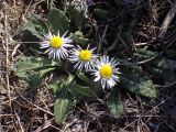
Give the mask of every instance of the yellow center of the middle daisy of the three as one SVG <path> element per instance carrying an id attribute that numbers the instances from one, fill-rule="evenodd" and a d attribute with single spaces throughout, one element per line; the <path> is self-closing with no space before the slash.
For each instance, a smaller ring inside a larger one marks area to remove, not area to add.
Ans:
<path id="1" fill-rule="evenodd" d="M 79 53 L 79 57 L 80 57 L 81 61 L 85 61 L 85 62 L 90 61 L 90 58 L 91 58 L 91 52 L 88 51 L 88 50 L 82 50 Z"/>

